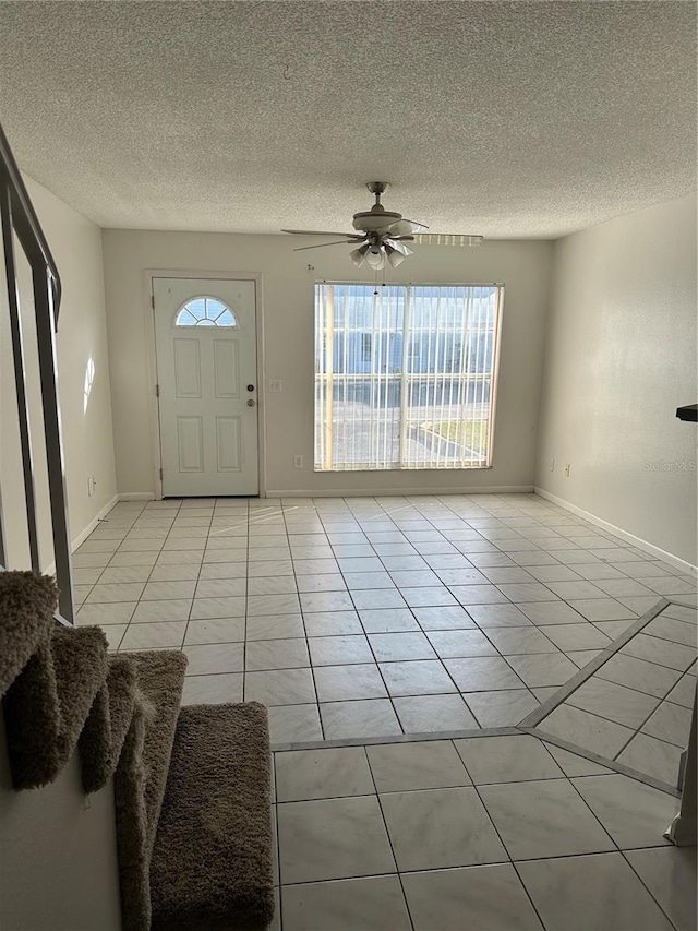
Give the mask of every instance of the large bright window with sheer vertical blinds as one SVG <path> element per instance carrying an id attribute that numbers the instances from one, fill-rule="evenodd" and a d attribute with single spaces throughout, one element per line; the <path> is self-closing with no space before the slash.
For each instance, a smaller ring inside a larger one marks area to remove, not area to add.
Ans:
<path id="1" fill-rule="evenodd" d="M 500 285 L 315 286 L 315 469 L 486 468 Z"/>

